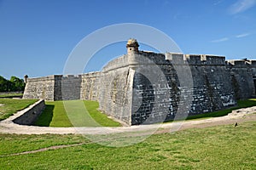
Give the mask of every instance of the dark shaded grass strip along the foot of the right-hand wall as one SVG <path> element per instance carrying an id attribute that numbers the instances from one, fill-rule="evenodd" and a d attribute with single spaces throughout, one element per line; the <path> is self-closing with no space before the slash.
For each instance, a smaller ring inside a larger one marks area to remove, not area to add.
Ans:
<path id="1" fill-rule="evenodd" d="M 241 109 L 241 108 L 247 108 L 247 107 L 253 107 L 253 106 L 256 106 L 256 99 L 242 99 L 242 100 L 237 101 L 237 105 L 234 107 L 224 109 L 221 111 L 214 111 L 214 112 L 210 112 L 210 113 L 188 116 L 186 118 L 186 120 L 227 116 L 229 113 L 231 113 L 234 110 Z M 183 120 L 183 119 L 181 119 L 181 120 Z M 179 121 L 179 120 L 177 120 L 177 121 Z M 173 122 L 173 120 L 166 121 L 166 122 Z"/>

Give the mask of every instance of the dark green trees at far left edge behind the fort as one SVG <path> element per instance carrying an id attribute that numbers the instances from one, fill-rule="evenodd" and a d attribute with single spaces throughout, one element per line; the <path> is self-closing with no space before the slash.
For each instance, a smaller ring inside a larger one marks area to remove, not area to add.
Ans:
<path id="1" fill-rule="evenodd" d="M 0 76 L 0 92 L 18 92 L 24 91 L 25 82 L 18 77 L 10 77 L 9 80 Z"/>

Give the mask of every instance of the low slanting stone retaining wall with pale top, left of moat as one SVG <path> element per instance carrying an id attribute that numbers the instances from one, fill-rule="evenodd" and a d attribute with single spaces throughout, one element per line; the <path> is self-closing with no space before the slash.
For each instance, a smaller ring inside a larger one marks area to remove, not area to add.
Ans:
<path id="1" fill-rule="evenodd" d="M 20 125 L 32 125 L 38 119 L 44 110 L 44 99 L 38 100 L 38 102 L 30 105 L 25 110 L 19 111 L 15 114 L 12 122 Z"/>

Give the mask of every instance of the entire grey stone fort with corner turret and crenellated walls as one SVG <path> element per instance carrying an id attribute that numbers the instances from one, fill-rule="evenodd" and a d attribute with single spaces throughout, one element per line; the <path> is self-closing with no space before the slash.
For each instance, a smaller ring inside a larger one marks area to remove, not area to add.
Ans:
<path id="1" fill-rule="evenodd" d="M 136 39 L 128 40 L 127 54 L 110 61 L 102 71 L 26 78 L 23 98 L 96 100 L 108 116 L 138 125 L 172 120 L 183 112 L 192 116 L 222 110 L 236 105 L 237 99 L 255 95 L 256 60 L 157 54 L 138 47 Z M 190 86 L 179 79 L 178 72 L 183 71 L 183 79 L 191 79 Z M 190 77 L 186 77 L 188 71 Z"/>

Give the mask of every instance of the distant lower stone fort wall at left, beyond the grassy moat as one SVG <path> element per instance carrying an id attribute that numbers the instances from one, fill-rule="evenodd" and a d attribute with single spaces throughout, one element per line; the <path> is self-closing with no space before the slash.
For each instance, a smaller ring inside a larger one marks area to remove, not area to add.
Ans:
<path id="1" fill-rule="evenodd" d="M 28 78 L 23 99 L 98 100 L 101 72 Z"/>

